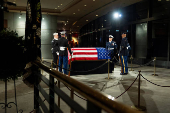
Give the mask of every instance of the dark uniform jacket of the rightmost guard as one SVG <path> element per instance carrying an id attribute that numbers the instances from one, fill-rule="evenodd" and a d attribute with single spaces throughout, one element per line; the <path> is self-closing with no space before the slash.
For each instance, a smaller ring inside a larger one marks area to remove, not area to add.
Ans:
<path id="1" fill-rule="evenodd" d="M 119 55 L 120 56 L 128 56 L 128 40 L 127 38 L 122 38 L 121 44 L 120 44 L 120 50 Z"/>

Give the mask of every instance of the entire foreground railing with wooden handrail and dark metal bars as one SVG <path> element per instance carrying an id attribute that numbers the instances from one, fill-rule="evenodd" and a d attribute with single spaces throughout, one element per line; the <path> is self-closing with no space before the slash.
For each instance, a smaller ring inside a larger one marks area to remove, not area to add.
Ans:
<path id="1" fill-rule="evenodd" d="M 109 99 L 107 95 L 104 95 L 59 71 L 50 69 L 41 62 L 35 61 L 33 64 L 50 75 L 49 80 L 43 75 L 38 75 L 49 87 L 49 94 L 47 94 L 41 85 L 38 84 L 38 79 L 36 80 L 37 83 L 34 86 L 34 109 L 36 110 L 36 113 L 42 113 L 39 106 L 41 106 L 44 113 L 63 113 L 60 109 L 60 99 L 65 101 L 71 108 L 71 113 L 74 111 L 76 113 L 101 113 L 102 110 L 108 113 L 140 113 L 126 105 Z M 58 86 L 55 85 L 54 78 L 58 80 Z M 70 97 L 60 89 L 60 82 L 71 89 Z M 44 104 L 43 99 L 39 96 L 39 92 L 49 103 L 49 107 Z M 77 92 L 87 100 L 87 109 L 73 100 L 74 92 Z M 54 94 L 58 95 L 58 105 L 55 103 Z"/>

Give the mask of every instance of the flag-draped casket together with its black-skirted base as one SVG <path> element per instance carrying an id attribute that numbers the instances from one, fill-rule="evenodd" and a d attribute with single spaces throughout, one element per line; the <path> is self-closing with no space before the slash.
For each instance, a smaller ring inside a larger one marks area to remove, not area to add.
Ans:
<path id="1" fill-rule="evenodd" d="M 71 75 L 108 73 L 109 52 L 102 47 L 71 48 L 72 58 L 68 52 L 68 63 L 71 62 Z M 114 67 L 109 67 L 110 72 Z"/>

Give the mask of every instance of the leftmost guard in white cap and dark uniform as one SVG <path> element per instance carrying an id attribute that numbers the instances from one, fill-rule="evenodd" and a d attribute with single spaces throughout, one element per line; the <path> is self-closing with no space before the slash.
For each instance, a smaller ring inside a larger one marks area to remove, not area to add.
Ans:
<path id="1" fill-rule="evenodd" d="M 53 33 L 54 39 L 51 41 L 52 44 L 52 54 L 53 54 L 53 69 L 56 69 L 57 60 L 59 55 L 59 46 L 58 46 L 58 33 Z"/>

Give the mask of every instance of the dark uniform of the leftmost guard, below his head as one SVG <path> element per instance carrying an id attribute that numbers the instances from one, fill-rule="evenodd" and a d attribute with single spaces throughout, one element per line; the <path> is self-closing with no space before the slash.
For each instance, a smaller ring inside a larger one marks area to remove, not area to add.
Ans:
<path id="1" fill-rule="evenodd" d="M 53 68 L 56 68 L 56 65 L 57 65 L 57 60 L 58 60 L 58 55 L 57 55 L 57 52 L 59 52 L 59 46 L 58 46 L 58 39 L 53 39 L 51 41 L 51 44 L 52 44 L 52 54 L 53 54 Z M 56 65 L 55 65 L 56 64 Z"/>

